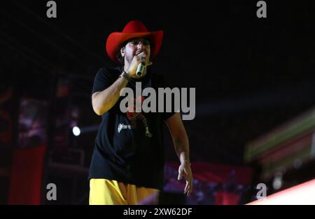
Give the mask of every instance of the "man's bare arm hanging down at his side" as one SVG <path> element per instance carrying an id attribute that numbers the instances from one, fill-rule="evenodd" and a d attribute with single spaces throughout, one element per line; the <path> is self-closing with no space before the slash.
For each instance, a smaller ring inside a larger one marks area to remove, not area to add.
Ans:
<path id="1" fill-rule="evenodd" d="M 184 194 L 189 196 L 193 191 L 193 173 L 190 168 L 188 135 L 183 126 L 183 121 L 181 121 L 181 114 L 176 112 L 172 117 L 169 117 L 167 126 L 172 135 L 177 157 L 181 161 L 178 180 L 181 180 L 182 177 L 186 179 Z"/>

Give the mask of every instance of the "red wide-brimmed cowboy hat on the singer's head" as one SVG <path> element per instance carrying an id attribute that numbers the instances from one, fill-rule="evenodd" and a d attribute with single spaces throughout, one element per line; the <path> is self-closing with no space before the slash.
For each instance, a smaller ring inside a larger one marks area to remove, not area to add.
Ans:
<path id="1" fill-rule="evenodd" d="M 113 32 L 109 34 L 106 41 L 106 52 L 114 62 L 119 63 L 116 54 L 118 53 L 120 44 L 123 44 L 123 42 L 129 39 L 139 37 L 144 37 L 154 44 L 153 48 L 151 48 L 152 58 L 158 55 L 162 45 L 163 31 L 149 32 L 144 23 L 140 20 L 128 22 L 123 32 Z"/>

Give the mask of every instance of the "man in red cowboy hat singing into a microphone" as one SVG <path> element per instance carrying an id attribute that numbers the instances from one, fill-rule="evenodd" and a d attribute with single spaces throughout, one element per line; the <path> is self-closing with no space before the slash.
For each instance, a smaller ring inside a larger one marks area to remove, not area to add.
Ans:
<path id="1" fill-rule="evenodd" d="M 166 122 L 181 165 L 178 179 L 186 180 L 184 193 L 193 190 L 189 142 L 179 112 L 138 112 L 146 97 L 134 96 L 128 112 L 120 110 L 120 91 L 165 86 L 151 72 L 151 58 L 158 55 L 162 31 L 149 32 L 139 20 L 127 23 L 123 32 L 113 32 L 106 52 L 116 68 L 101 68 L 94 79 L 92 107 L 102 116 L 90 165 L 90 204 L 138 204 L 163 189 L 165 154 L 162 125 Z M 142 71 L 137 74 L 137 69 Z"/>

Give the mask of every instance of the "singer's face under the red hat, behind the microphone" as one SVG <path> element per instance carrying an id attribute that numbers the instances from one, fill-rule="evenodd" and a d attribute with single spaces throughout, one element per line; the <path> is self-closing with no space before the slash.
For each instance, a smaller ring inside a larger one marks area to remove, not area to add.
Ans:
<path id="1" fill-rule="evenodd" d="M 124 56 L 125 61 L 130 64 L 134 55 L 139 55 L 139 53 L 142 52 L 145 53 L 142 56 L 144 56 L 146 58 L 146 62 L 148 62 L 150 60 L 151 53 L 150 41 L 144 38 L 135 38 L 127 42 L 122 55 Z"/>

